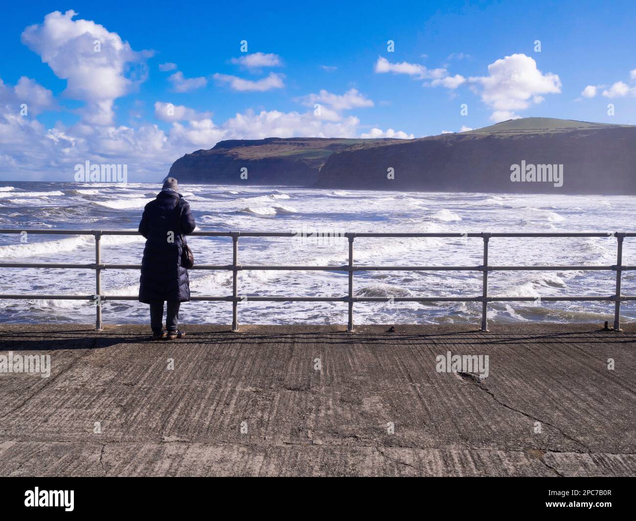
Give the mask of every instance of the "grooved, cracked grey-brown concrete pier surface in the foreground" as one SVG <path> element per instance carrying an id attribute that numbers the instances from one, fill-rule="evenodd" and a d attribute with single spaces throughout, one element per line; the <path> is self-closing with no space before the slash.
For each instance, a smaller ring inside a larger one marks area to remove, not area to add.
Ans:
<path id="1" fill-rule="evenodd" d="M 0 475 L 636 475 L 636 324 L 241 327 L 0 324 Z"/>

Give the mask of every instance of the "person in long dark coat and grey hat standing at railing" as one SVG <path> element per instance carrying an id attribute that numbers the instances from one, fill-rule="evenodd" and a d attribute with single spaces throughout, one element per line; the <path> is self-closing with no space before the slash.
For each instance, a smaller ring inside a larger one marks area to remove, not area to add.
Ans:
<path id="1" fill-rule="evenodd" d="M 184 337 L 179 331 L 179 307 L 190 300 L 188 270 L 182 265 L 182 235 L 195 229 L 190 204 L 179 193 L 174 177 L 165 179 L 162 191 L 149 202 L 139 223 L 146 238 L 141 261 L 139 302 L 150 305 L 153 340 Z M 163 303 L 166 306 L 166 330 L 163 330 Z"/>

